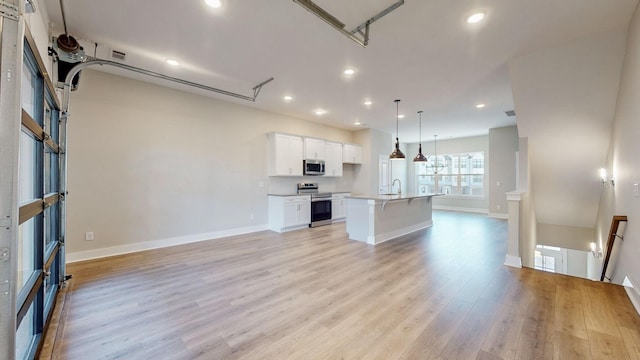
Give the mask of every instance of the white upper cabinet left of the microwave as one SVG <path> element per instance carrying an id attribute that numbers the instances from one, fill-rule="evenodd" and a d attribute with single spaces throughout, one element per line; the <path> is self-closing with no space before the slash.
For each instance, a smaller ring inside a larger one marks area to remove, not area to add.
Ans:
<path id="1" fill-rule="evenodd" d="M 269 176 L 302 176 L 301 136 L 269 133 Z"/>

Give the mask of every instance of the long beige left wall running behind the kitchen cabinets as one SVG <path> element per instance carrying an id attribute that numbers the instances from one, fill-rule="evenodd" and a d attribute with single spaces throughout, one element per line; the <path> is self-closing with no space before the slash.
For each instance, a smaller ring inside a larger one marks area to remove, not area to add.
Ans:
<path id="1" fill-rule="evenodd" d="M 70 260 L 264 228 L 268 192 L 318 180 L 267 177 L 267 132 L 355 142 L 346 130 L 94 70 L 83 71 L 70 114 Z M 355 172 L 345 170 L 321 186 L 350 191 Z"/>

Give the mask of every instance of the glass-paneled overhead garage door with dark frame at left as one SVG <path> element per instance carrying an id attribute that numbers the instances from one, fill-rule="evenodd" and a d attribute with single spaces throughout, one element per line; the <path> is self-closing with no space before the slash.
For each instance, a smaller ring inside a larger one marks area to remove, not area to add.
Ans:
<path id="1" fill-rule="evenodd" d="M 16 359 L 37 354 L 61 281 L 60 109 L 34 47 L 28 35 L 21 83 Z"/>

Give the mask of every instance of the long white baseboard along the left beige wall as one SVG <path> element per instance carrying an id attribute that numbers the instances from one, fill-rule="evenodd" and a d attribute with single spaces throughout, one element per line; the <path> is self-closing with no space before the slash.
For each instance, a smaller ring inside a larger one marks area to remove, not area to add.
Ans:
<path id="1" fill-rule="evenodd" d="M 248 226 L 248 227 L 237 228 L 237 229 L 222 230 L 222 231 L 214 231 L 214 232 L 204 233 L 204 234 L 178 236 L 178 237 L 173 237 L 168 239 L 151 240 L 151 241 L 145 241 L 145 242 L 134 243 L 134 244 L 125 244 L 125 245 L 119 245 L 119 246 L 106 247 L 101 249 L 67 252 L 66 262 L 67 264 L 69 264 L 69 263 L 78 262 L 78 261 L 99 259 L 99 258 L 108 257 L 108 256 L 129 254 L 129 253 L 138 252 L 138 251 L 159 249 L 159 248 L 164 248 L 169 246 L 219 239 L 219 238 L 228 237 L 228 236 L 249 234 L 249 233 L 263 231 L 263 230 L 268 230 L 267 224 L 257 225 L 257 226 Z"/>

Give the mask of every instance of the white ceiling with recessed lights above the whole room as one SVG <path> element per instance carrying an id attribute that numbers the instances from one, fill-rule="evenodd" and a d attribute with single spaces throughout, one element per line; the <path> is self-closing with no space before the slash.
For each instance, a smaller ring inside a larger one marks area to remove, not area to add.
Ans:
<path id="1" fill-rule="evenodd" d="M 65 0 L 69 33 L 127 53 L 127 63 L 204 85 L 251 95 L 255 103 L 206 94 L 300 119 L 357 129 L 356 121 L 400 141 L 486 134 L 515 124 L 507 62 L 515 56 L 625 26 L 637 0 L 407 0 L 371 25 L 367 48 L 291 0 Z M 351 29 L 395 0 L 316 0 Z M 59 0 L 44 0 L 61 32 Z M 475 9 L 487 12 L 467 24 Z M 89 55 L 92 46 L 85 46 Z M 172 68 L 164 61 L 181 62 Z M 346 77 L 346 67 L 356 74 Z M 171 85 L 171 84 L 167 84 Z M 82 86 L 82 85 L 81 85 Z M 198 92 L 199 90 L 185 89 Z M 203 93 L 204 94 L 204 93 Z M 294 100 L 285 103 L 290 94 Z M 373 105 L 364 106 L 365 99 Z M 478 110 L 475 104 L 486 107 Z M 312 113 L 323 108 L 327 114 Z"/>

